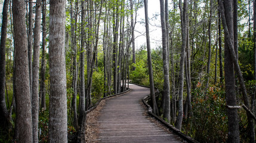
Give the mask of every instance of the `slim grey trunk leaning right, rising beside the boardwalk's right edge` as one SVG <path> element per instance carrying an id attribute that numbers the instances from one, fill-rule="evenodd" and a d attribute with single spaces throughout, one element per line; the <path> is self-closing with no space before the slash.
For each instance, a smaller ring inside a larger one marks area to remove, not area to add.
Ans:
<path id="1" fill-rule="evenodd" d="M 181 54 L 180 54 L 180 73 L 179 73 L 179 81 L 180 85 L 178 88 L 178 116 L 175 122 L 175 128 L 181 130 L 182 120 L 183 120 L 183 86 L 184 86 L 184 61 L 185 61 L 185 49 L 187 42 L 187 0 L 184 0 L 183 8 L 181 8 L 181 0 L 180 11 L 181 11 L 181 36 L 182 36 L 182 45 L 181 45 Z"/>

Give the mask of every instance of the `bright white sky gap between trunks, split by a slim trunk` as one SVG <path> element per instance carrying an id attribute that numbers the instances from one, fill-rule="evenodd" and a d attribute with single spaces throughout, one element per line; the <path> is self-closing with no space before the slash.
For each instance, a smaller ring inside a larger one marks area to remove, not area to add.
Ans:
<path id="1" fill-rule="evenodd" d="M 162 31 L 160 19 L 160 2 L 157 0 L 149 0 L 149 30 L 150 30 L 150 46 L 155 49 L 162 44 Z M 135 25 L 135 48 L 146 45 L 146 27 L 144 6 L 138 10 L 137 23 Z M 157 15 L 157 16 L 155 16 Z M 142 21 L 142 22 L 141 22 Z M 141 36 L 142 35 L 142 36 Z"/>

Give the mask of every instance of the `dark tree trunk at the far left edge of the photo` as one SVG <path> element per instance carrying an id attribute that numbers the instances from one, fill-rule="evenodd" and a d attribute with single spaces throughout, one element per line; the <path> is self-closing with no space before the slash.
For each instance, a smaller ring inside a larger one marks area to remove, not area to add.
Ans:
<path id="1" fill-rule="evenodd" d="M 10 126 L 10 121 L 8 121 L 7 106 L 5 102 L 5 42 L 7 38 L 8 5 L 9 0 L 5 0 L 2 10 L 2 27 L 0 43 L 0 128 L 7 128 L 7 125 Z"/>

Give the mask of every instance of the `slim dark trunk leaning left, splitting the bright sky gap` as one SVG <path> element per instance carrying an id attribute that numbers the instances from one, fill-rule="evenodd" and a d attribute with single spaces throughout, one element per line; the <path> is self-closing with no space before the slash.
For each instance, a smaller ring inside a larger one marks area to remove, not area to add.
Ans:
<path id="1" fill-rule="evenodd" d="M 153 113 L 158 114 L 158 106 L 156 105 L 155 97 L 155 86 L 153 79 L 152 60 L 151 60 L 151 49 L 150 49 L 150 36 L 149 36 L 149 16 L 147 8 L 147 0 L 144 0 L 145 9 L 145 26 L 146 26 L 146 38 L 147 38 L 147 62 L 149 65 L 149 84 L 150 84 L 150 95 L 153 101 Z"/>

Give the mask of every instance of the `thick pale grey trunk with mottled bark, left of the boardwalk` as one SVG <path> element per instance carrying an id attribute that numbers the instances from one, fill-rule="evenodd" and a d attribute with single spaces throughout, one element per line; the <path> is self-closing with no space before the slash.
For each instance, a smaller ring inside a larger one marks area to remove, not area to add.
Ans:
<path id="1" fill-rule="evenodd" d="M 50 1 L 49 63 L 50 102 L 49 140 L 67 142 L 67 96 L 65 61 L 66 1 Z"/>

